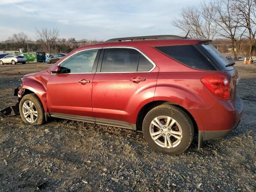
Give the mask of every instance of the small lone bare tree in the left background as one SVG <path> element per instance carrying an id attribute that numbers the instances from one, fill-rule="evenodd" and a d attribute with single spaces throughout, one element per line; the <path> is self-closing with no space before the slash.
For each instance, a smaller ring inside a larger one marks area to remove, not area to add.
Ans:
<path id="1" fill-rule="evenodd" d="M 36 35 L 41 42 L 44 42 L 44 46 L 51 54 L 51 46 L 59 36 L 59 30 L 57 28 L 48 29 L 42 28 L 41 30 L 36 29 Z"/>

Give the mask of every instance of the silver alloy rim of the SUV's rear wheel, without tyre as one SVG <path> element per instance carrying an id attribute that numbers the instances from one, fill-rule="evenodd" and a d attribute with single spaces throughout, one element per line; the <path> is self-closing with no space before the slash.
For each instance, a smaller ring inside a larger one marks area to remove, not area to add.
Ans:
<path id="1" fill-rule="evenodd" d="M 163 148 L 174 148 L 182 140 L 180 124 L 169 116 L 158 116 L 150 123 L 150 136 Z"/>

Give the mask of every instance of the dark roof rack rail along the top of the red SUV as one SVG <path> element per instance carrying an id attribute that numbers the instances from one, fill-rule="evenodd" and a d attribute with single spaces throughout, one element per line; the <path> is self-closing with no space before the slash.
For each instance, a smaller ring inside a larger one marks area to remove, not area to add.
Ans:
<path id="1" fill-rule="evenodd" d="M 134 41 L 134 40 L 175 40 L 175 39 L 186 39 L 177 35 L 152 35 L 152 36 L 138 36 L 138 37 L 124 37 L 114 38 L 106 40 L 106 43 L 110 42 L 122 42 L 122 41 Z"/>

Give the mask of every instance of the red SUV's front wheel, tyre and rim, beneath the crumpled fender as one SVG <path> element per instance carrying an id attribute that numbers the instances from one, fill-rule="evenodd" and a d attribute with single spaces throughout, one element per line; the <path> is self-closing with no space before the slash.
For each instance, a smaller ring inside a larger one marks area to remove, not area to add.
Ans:
<path id="1" fill-rule="evenodd" d="M 20 100 L 20 116 L 25 123 L 43 124 L 44 108 L 36 94 L 27 94 Z"/>

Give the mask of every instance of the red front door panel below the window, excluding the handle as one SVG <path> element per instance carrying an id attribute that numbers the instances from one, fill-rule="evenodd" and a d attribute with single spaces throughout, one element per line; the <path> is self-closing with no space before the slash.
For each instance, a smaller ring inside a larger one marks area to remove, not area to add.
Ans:
<path id="1" fill-rule="evenodd" d="M 92 115 L 92 80 L 90 74 L 51 74 L 47 83 L 48 110 L 50 113 Z M 86 79 L 89 83 L 80 84 Z"/>

